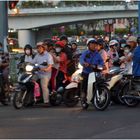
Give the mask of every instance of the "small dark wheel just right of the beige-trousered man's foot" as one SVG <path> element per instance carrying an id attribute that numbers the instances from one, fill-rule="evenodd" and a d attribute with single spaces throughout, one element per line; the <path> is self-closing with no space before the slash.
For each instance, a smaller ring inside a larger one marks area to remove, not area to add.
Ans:
<path id="1" fill-rule="evenodd" d="M 62 103 L 62 95 L 59 93 L 53 93 L 50 95 L 50 104 L 52 106 L 59 106 Z"/>

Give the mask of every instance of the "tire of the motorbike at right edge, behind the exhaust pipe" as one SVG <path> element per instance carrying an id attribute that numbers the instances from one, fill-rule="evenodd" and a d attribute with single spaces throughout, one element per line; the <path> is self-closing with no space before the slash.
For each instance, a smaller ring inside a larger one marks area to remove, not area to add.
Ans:
<path id="1" fill-rule="evenodd" d="M 123 95 L 128 95 L 128 87 L 129 87 L 129 83 L 127 83 L 123 90 L 122 90 L 122 93 Z M 124 103 L 128 106 L 128 107 L 136 107 L 138 104 L 139 104 L 139 101 L 138 100 L 135 100 L 135 99 L 127 99 L 127 98 L 124 98 L 123 99 Z"/>

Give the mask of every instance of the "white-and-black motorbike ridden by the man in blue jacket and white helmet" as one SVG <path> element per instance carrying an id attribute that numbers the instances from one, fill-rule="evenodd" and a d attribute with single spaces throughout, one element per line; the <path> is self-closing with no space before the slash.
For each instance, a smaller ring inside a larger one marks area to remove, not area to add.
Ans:
<path id="1" fill-rule="evenodd" d="M 92 66 L 93 72 L 88 77 L 87 101 L 82 103 L 83 109 L 87 109 L 89 104 L 93 104 L 96 110 L 103 111 L 110 104 L 110 91 L 108 83 L 102 77 L 103 67 Z"/>

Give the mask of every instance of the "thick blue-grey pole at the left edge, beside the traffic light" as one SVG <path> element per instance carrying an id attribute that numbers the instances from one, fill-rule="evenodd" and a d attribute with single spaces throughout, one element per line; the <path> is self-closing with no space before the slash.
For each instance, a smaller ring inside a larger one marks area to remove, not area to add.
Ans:
<path id="1" fill-rule="evenodd" d="M 7 1 L 0 1 L 0 42 L 3 44 L 4 52 L 7 49 L 8 36 L 8 6 Z"/>

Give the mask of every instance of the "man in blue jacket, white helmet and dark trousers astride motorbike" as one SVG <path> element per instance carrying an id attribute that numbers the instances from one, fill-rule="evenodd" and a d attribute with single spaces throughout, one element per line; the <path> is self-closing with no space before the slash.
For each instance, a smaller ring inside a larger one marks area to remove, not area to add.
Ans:
<path id="1" fill-rule="evenodd" d="M 80 56 L 80 64 L 83 66 L 82 77 L 82 100 L 83 104 L 86 102 L 88 76 L 93 71 L 90 65 L 103 66 L 104 62 L 101 55 L 96 51 L 97 41 L 94 38 L 87 40 L 88 50 L 84 51 Z"/>

